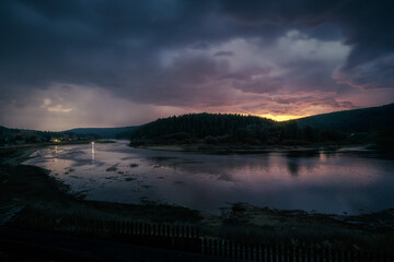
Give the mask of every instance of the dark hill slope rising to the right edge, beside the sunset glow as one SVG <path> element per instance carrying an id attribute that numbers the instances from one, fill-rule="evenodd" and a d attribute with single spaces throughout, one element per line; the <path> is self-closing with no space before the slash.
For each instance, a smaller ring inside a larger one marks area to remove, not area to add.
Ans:
<path id="1" fill-rule="evenodd" d="M 300 126 L 331 128 L 340 132 L 394 132 L 394 104 L 316 115 L 298 119 Z"/>

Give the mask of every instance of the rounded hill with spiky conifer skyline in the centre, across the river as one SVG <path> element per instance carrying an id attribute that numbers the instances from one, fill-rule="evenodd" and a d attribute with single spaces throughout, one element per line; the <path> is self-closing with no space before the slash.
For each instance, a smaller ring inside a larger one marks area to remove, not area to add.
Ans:
<path id="1" fill-rule="evenodd" d="M 299 144 L 317 141 L 339 141 L 343 134 L 333 130 L 299 128 L 296 121 L 221 114 L 190 114 L 158 119 L 131 132 L 131 144 L 173 143 L 248 143 Z"/>

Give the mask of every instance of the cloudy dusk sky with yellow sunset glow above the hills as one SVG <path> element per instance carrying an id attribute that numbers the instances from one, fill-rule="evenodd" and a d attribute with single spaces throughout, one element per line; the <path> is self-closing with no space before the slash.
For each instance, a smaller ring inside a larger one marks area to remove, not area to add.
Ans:
<path id="1" fill-rule="evenodd" d="M 0 124 L 286 120 L 394 102 L 394 2 L 1 0 Z"/>

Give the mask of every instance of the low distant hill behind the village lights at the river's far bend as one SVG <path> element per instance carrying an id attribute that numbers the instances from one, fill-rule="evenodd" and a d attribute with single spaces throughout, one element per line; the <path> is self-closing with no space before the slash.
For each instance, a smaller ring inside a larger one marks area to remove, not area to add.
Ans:
<path id="1" fill-rule="evenodd" d="M 102 139 L 128 139 L 130 132 L 137 127 L 123 128 L 77 128 L 68 130 L 77 134 L 95 134 Z"/>

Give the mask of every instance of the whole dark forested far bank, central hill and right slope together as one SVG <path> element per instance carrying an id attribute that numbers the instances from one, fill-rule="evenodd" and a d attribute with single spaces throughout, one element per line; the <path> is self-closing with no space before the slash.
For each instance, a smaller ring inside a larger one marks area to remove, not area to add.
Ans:
<path id="1" fill-rule="evenodd" d="M 189 114 L 158 119 L 130 133 L 131 145 L 393 144 L 394 104 L 276 122 L 255 116 Z"/>

